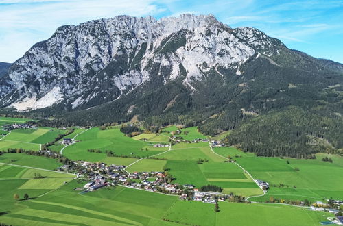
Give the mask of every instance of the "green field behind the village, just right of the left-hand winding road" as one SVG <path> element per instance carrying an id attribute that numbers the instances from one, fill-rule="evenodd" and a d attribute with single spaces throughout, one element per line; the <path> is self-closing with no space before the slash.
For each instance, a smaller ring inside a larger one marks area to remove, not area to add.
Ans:
<path id="1" fill-rule="evenodd" d="M 165 151 L 161 148 L 154 148 L 147 142 L 134 140 L 125 136 L 119 128 L 99 130 L 98 127 L 89 129 L 77 137 L 80 142 L 69 145 L 63 154 L 72 160 L 85 160 L 90 162 L 109 162 L 105 150 L 111 150 L 116 155 L 149 156 Z M 99 149 L 103 153 L 91 153 L 87 149 Z M 147 149 L 147 151 L 145 151 Z"/>

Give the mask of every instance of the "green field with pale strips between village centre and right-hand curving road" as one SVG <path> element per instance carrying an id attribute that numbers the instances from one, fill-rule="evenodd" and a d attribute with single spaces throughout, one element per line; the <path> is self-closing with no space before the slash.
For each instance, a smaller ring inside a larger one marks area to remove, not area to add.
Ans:
<path id="1" fill-rule="evenodd" d="M 215 155 L 207 143 L 189 145 L 199 144 L 206 145 L 206 147 L 189 147 L 187 149 L 184 148 L 185 144 L 180 144 L 180 148 L 176 149 L 177 146 L 174 145 L 172 151 L 158 156 L 167 159 L 165 168 L 168 168 L 168 173 L 176 178 L 174 183 L 193 184 L 198 188 L 213 184 L 222 187 L 226 193 L 235 192 L 235 194 L 245 197 L 251 194 L 263 194 L 241 168 L 236 164 L 224 162 L 224 158 Z M 199 158 L 205 162 L 197 164 Z"/>

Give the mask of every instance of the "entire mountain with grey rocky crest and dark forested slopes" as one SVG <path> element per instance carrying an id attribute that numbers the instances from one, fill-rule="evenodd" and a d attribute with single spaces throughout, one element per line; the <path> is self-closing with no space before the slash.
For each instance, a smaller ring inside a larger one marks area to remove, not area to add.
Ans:
<path id="1" fill-rule="evenodd" d="M 53 125 L 198 125 L 231 145 L 305 157 L 343 147 L 343 64 L 212 16 L 59 27 L 0 80 L 0 105 Z M 274 123 L 270 123 L 274 122 Z"/>

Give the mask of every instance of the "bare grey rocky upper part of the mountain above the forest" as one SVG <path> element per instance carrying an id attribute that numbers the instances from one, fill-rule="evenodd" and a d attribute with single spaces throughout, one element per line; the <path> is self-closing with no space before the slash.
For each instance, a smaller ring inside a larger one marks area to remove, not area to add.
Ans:
<path id="1" fill-rule="evenodd" d="M 235 71 L 250 58 L 278 54 L 279 40 L 252 28 L 232 29 L 212 16 L 116 16 L 59 27 L 17 60 L 0 86 L 1 104 L 35 110 L 61 103 L 84 109 L 119 99 L 146 81 L 158 86 Z M 224 79 L 223 83 L 224 83 Z"/>

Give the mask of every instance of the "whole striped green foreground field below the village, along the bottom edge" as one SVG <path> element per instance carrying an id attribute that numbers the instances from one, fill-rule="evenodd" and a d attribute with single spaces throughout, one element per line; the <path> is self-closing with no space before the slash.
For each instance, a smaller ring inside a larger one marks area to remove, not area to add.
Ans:
<path id="1" fill-rule="evenodd" d="M 12 180 L 10 187 L 22 183 Z M 16 190 L 6 193 L 1 186 L 5 205 L 0 205 L 0 221 L 13 225 L 319 225 L 332 216 L 282 205 L 227 202 L 220 202 L 216 213 L 211 204 L 121 186 L 80 195 L 73 191 L 81 186 L 77 181 L 42 197 L 14 202 Z M 25 190 L 32 197 L 34 191 Z"/>

